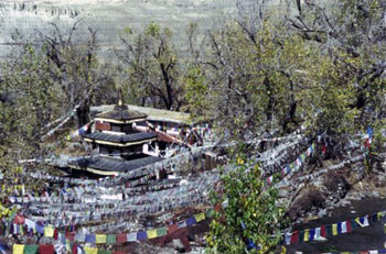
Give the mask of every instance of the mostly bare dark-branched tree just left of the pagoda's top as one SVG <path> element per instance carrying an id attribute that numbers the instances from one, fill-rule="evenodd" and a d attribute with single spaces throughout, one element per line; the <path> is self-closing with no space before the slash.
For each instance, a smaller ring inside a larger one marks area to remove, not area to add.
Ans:
<path id="1" fill-rule="evenodd" d="M 76 108 L 77 124 L 89 122 L 89 106 L 96 89 L 108 78 L 97 63 L 97 33 L 76 21 L 67 31 L 51 23 L 51 31 L 37 31 L 36 42 L 45 52 L 51 77 L 61 86 L 68 109 Z M 68 110 L 67 109 L 67 110 Z"/>

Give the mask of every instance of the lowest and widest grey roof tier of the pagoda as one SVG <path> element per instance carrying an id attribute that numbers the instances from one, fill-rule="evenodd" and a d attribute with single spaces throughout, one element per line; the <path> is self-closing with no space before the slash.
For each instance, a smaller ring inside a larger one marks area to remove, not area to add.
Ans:
<path id="1" fill-rule="evenodd" d="M 164 158 L 154 156 L 147 156 L 143 158 L 136 158 L 130 161 L 105 156 L 82 157 L 76 161 L 71 161 L 68 163 L 68 166 L 75 169 L 85 169 L 98 175 L 118 175 L 119 173 L 135 170 L 137 168 L 144 167 L 163 159 Z"/>

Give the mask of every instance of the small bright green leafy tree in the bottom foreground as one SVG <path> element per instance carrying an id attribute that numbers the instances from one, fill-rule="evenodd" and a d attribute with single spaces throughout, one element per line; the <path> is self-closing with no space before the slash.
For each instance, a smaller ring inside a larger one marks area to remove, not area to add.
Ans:
<path id="1" fill-rule="evenodd" d="M 277 202 L 277 189 L 265 186 L 260 168 L 245 159 L 238 157 L 235 170 L 222 177 L 222 190 L 214 195 L 214 205 L 225 201 L 227 206 L 215 212 L 206 236 L 207 253 L 246 253 L 247 241 L 257 245 L 248 253 L 280 250 L 280 230 L 287 225 L 285 208 Z"/>

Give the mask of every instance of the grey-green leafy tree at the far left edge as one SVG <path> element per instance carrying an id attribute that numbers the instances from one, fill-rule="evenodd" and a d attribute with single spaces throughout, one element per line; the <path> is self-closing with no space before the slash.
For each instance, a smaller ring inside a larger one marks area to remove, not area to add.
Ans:
<path id="1" fill-rule="evenodd" d="M 26 44 L 2 65 L 1 145 L 8 156 L 28 157 L 40 148 L 51 117 L 60 113 L 60 89 L 50 76 L 42 51 Z"/>

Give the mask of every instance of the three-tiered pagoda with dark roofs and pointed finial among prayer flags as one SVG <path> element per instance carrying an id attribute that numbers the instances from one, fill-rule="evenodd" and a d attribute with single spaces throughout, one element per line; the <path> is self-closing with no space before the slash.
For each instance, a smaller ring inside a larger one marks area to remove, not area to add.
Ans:
<path id="1" fill-rule="evenodd" d="M 71 161 L 68 166 L 72 169 L 109 176 L 162 161 L 163 158 L 157 156 L 157 133 L 140 132 L 135 128 L 146 122 L 147 117 L 129 110 L 119 98 L 118 104 L 111 111 L 95 117 L 90 133 L 82 134 L 92 147 L 92 156 Z M 149 152 L 149 147 L 153 147 L 154 152 Z"/>

